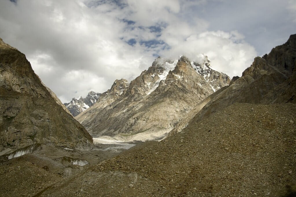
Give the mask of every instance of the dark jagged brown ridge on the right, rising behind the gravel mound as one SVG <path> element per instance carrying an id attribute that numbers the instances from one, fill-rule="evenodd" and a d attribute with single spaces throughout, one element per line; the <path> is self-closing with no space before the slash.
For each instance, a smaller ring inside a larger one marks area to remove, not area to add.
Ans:
<path id="1" fill-rule="evenodd" d="M 194 107 L 170 133 L 180 132 L 191 121 L 204 119 L 233 103 L 295 103 L 296 94 L 296 35 L 271 50 L 267 55 L 256 57 L 244 70 L 242 77 L 234 77 L 229 86 L 208 96 Z"/>

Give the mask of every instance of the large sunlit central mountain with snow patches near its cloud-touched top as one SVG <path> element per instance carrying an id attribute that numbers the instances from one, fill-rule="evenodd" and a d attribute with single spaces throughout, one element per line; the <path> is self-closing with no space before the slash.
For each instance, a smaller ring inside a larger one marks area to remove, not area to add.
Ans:
<path id="1" fill-rule="evenodd" d="M 123 141 L 158 140 L 230 78 L 215 71 L 210 60 L 195 63 L 158 57 L 130 83 L 116 80 L 99 101 L 75 118 L 93 137 Z"/>

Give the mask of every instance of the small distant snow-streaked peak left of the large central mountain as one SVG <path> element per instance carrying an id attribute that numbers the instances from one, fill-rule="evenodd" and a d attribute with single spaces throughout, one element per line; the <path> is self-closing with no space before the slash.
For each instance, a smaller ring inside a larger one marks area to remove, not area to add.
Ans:
<path id="1" fill-rule="evenodd" d="M 70 111 L 70 113 L 75 117 L 81 112 L 85 111 L 89 107 L 93 106 L 96 101 L 98 101 L 100 97 L 100 93 L 95 93 L 94 91 L 90 91 L 86 98 L 82 98 L 82 96 L 78 98 L 73 98 L 70 103 L 65 103 L 64 105 Z"/>

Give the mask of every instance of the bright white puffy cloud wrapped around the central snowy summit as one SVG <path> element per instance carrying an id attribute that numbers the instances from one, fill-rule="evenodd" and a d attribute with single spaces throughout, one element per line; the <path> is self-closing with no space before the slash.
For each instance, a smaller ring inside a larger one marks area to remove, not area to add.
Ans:
<path id="1" fill-rule="evenodd" d="M 198 61 L 198 55 L 202 53 L 209 57 L 214 69 L 230 77 L 241 76 L 257 54 L 255 48 L 244 42 L 243 35 L 236 31 L 207 31 L 189 36 L 170 51 L 163 52 L 163 55 L 186 55 L 190 60 Z"/>

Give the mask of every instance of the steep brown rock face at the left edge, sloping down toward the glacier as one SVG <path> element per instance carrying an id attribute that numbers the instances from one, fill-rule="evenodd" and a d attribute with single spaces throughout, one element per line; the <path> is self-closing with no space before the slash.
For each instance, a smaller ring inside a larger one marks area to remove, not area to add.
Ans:
<path id="1" fill-rule="evenodd" d="M 25 55 L 0 39 L 0 150 L 34 143 L 93 146 L 91 136 L 42 84 Z"/>

